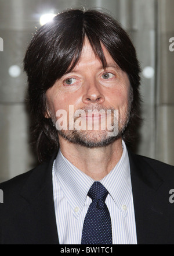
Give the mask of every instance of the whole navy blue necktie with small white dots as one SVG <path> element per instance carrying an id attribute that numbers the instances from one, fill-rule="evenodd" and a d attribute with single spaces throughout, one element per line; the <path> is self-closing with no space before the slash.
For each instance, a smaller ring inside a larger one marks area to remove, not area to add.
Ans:
<path id="1" fill-rule="evenodd" d="M 81 244 L 113 244 L 110 213 L 105 204 L 108 191 L 99 181 L 90 187 L 92 199 L 84 220 Z"/>

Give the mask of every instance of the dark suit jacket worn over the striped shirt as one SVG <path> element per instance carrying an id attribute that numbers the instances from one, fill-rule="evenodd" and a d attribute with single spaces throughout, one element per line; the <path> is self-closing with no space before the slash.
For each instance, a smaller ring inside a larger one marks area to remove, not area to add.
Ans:
<path id="1" fill-rule="evenodd" d="M 0 184 L 0 244 L 58 244 L 53 160 Z M 138 244 L 174 244 L 174 167 L 129 152 Z"/>

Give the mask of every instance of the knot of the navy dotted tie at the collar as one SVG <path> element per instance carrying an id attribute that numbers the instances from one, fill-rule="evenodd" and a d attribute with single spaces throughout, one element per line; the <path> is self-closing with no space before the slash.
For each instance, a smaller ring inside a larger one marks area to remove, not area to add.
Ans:
<path id="1" fill-rule="evenodd" d="M 108 195 L 107 189 L 99 181 L 95 181 L 90 187 L 90 190 L 88 192 L 88 196 L 92 200 L 102 199 L 103 202 L 106 200 L 107 195 Z"/>

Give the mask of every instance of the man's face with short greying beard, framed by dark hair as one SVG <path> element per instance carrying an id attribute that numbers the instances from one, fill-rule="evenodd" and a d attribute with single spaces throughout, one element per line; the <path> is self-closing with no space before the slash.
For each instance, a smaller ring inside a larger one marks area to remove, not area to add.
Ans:
<path id="1" fill-rule="evenodd" d="M 85 39 L 81 58 L 73 71 L 63 75 L 46 92 L 46 117 L 52 118 L 59 138 L 63 136 L 90 148 L 107 145 L 121 136 L 131 106 L 128 76 L 115 64 L 106 48 L 102 48 L 106 70 Z M 118 118 L 114 117 L 114 110 Z M 91 114 L 95 111 L 97 114 Z M 117 125 L 118 134 L 108 136 Z"/>

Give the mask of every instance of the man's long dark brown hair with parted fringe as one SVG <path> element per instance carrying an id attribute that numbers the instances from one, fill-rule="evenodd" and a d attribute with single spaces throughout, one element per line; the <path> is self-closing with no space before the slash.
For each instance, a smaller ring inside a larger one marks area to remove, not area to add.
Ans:
<path id="1" fill-rule="evenodd" d="M 135 139 L 133 134 L 140 121 L 140 66 L 135 47 L 126 31 L 107 13 L 98 10 L 66 10 L 34 34 L 24 58 L 24 71 L 28 76 L 28 104 L 34 120 L 32 138 L 39 162 L 49 159 L 59 150 L 56 128 L 52 120 L 45 118 L 46 91 L 78 63 L 85 37 L 103 68 L 106 67 L 106 59 L 101 43 L 129 77 L 133 99 L 123 139 L 127 144 Z"/>

